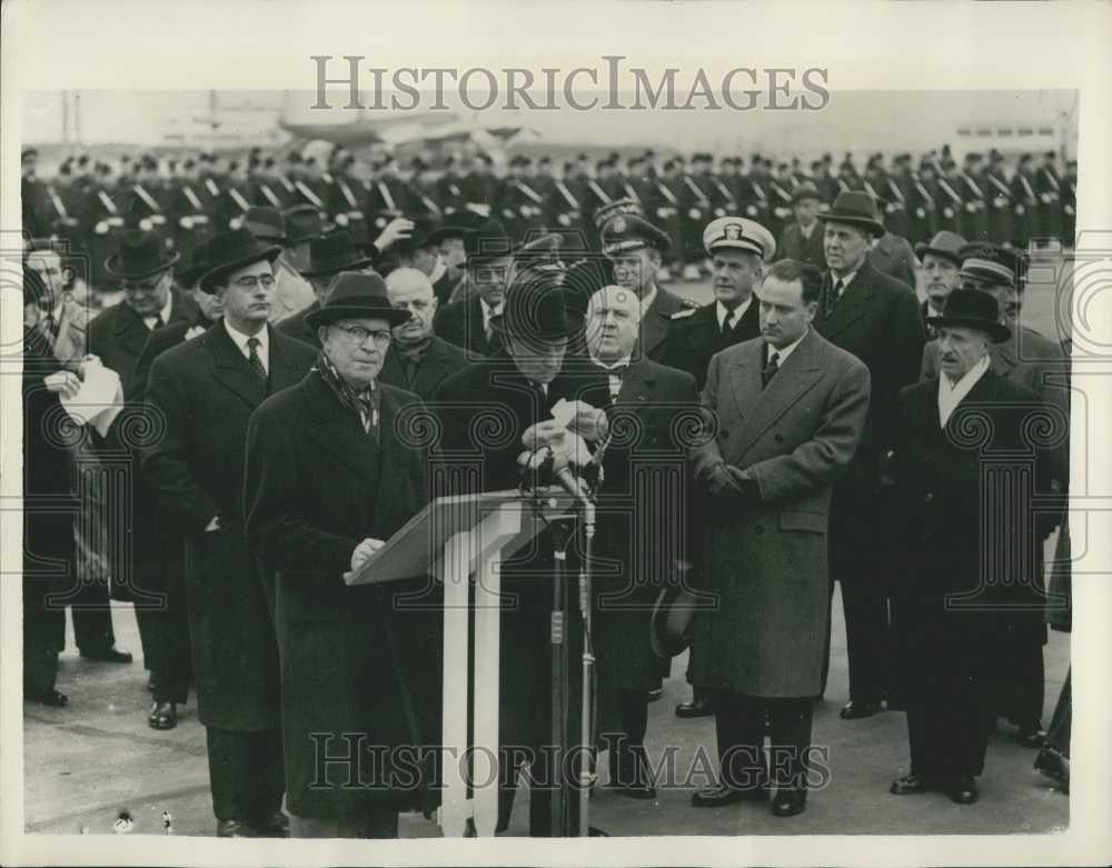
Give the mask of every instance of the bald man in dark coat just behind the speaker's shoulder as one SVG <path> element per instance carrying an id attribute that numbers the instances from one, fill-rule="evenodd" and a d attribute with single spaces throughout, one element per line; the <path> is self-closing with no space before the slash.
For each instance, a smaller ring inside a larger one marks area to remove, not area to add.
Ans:
<path id="1" fill-rule="evenodd" d="M 467 353 L 433 333 L 437 299 L 428 275 L 416 268 L 397 268 L 386 278 L 386 291 L 395 308 L 413 316 L 394 327 L 379 382 L 428 398 L 448 375 L 467 366 Z"/>

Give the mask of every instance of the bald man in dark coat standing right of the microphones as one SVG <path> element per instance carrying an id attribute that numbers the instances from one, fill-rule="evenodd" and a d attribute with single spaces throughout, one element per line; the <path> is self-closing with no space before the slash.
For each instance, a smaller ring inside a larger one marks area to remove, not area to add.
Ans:
<path id="1" fill-rule="evenodd" d="M 594 640 L 598 727 L 609 748 L 609 788 L 651 799 L 656 790 L 645 755 L 648 694 L 671 658 L 649 646 L 649 616 L 676 561 L 687 559 L 685 445 L 678 439 L 698 402 L 695 378 L 639 355 L 642 305 L 632 289 L 604 287 L 587 306 L 588 357 L 573 427 L 603 459 L 595 537 Z M 619 419 L 625 421 L 617 421 Z M 610 421 L 615 433 L 608 438 Z M 632 435 L 632 436 L 631 436 Z M 605 565 L 605 566 L 603 566 Z"/>

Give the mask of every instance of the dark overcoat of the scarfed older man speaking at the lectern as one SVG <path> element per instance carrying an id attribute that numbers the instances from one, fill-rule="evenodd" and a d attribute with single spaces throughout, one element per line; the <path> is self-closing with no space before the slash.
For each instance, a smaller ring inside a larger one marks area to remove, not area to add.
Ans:
<path id="1" fill-rule="evenodd" d="M 314 370 L 265 401 L 247 435 L 247 536 L 276 573 L 286 799 L 298 816 L 417 805 L 423 750 L 439 735 L 435 587 L 423 577 L 350 587 L 342 578 L 363 539 L 389 539 L 429 500 L 424 406 L 376 388 L 377 433 Z M 321 750 L 360 748 L 361 767 L 330 766 L 322 785 Z"/>

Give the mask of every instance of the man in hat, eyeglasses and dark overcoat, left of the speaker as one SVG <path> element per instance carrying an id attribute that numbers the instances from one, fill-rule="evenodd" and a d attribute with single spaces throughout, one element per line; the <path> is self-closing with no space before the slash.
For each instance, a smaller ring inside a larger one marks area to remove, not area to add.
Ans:
<path id="1" fill-rule="evenodd" d="M 274 588 L 244 535 L 244 443 L 251 412 L 298 382 L 314 350 L 267 322 L 278 246 L 246 228 L 215 236 L 200 288 L 224 318 L 167 350 L 147 401 L 163 433 L 142 472 L 186 538 L 186 598 L 198 717 L 207 728 L 219 837 L 285 834 Z"/>

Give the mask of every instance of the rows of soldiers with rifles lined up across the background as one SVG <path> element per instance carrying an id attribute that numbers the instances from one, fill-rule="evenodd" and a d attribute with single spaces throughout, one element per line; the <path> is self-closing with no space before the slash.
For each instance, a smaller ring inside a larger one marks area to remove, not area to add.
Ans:
<path id="1" fill-rule="evenodd" d="M 259 149 L 228 157 L 201 152 L 159 160 L 125 158 L 118 167 L 87 154 L 64 160 L 53 177 L 38 176 L 38 152 L 24 149 L 23 222 L 32 237 L 66 239 L 88 253 L 86 279 L 102 287 L 102 262 L 125 226 L 149 226 L 185 258 L 192 243 L 241 221 L 251 206 L 316 210 L 321 219 L 370 240 L 396 218 L 450 221 L 468 216 L 502 220 L 515 238 L 542 228 L 594 236 L 595 212 L 633 199 L 672 239 L 662 280 L 706 272 L 702 227 L 715 217 L 741 216 L 776 239 L 794 221 L 800 197 L 822 210 L 847 190 L 872 196 L 888 231 L 911 243 L 937 231 L 1027 249 L 1056 239 L 1072 246 L 1076 228 L 1076 162 L 1058 156 L 1020 154 L 1010 162 L 995 149 L 961 162 L 949 148 L 923 154 L 876 153 L 858 169 L 852 154 L 835 168 L 830 154 L 804 167 L 754 153 L 748 163 L 697 152 L 658 159 L 653 151 L 592 160 L 585 153 L 555 167 L 550 158 L 514 153 L 504 170 L 481 151 L 451 154 L 434 168 L 415 157 L 374 160 L 340 147 L 320 159 L 291 150 L 282 160 Z M 595 238 L 594 240 L 597 240 Z"/>

